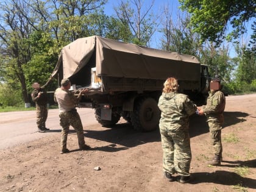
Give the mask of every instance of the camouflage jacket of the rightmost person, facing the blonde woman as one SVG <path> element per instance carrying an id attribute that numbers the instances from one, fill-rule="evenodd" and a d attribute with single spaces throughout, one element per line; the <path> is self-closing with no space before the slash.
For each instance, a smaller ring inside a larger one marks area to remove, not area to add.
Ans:
<path id="1" fill-rule="evenodd" d="M 226 98 L 222 91 L 209 91 L 209 96 L 207 98 L 207 104 L 203 105 L 205 115 L 207 116 L 207 121 L 219 121 L 224 122 L 223 112 L 226 106 Z"/>

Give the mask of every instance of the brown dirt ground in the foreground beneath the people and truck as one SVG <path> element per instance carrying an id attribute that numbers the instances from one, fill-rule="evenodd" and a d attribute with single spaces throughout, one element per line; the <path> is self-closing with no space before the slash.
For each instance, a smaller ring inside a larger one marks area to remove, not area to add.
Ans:
<path id="1" fill-rule="evenodd" d="M 73 130 L 68 154 L 60 154 L 60 133 L 2 149 L 0 191 L 256 191 L 256 94 L 226 99 L 222 166 L 207 165 L 207 124 L 202 116 L 191 117 L 191 183 L 163 178 L 158 130 L 135 132 L 123 119 L 105 128 L 85 119 L 89 151 L 77 151 Z"/>

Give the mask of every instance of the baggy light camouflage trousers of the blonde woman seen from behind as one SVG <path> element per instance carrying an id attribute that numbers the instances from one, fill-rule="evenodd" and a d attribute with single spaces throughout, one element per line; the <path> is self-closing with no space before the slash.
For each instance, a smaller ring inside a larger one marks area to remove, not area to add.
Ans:
<path id="1" fill-rule="evenodd" d="M 190 176 L 191 148 L 188 129 L 170 130 L 160 126 L 163 148 L 163 171 Z"/>

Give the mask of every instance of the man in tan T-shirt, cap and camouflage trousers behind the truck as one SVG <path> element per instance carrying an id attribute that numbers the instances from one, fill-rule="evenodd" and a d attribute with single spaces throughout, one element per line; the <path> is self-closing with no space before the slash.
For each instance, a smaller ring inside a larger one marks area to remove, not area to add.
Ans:
<path id="1" fill-rule="evenodd" d="M 69 126 L 73 126 L 77 133 L 79 149 L 90 148 L 85 144 L 84 130 L 79 114 L 76 111 L 77 102 L 80 99 L 82 93 L 88 90 L 80 91 L 79 96 L 76 98 L 74 94 L 69 91 L 71 83 L 69 79 L 63 79 L 62 87 L 57 88 L 54 93 L 54 101 L 59 104 L 59 116 L 60 116 L 60 126 L 62 126 L 62 138 L 61 138 L 61 152 L 66 153 L 69 150 L 66 148 L 66 141 L 68 139 Z"/>

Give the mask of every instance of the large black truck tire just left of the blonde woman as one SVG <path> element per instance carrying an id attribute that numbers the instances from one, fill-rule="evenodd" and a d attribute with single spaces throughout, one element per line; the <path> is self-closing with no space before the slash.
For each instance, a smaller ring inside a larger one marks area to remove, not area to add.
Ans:
<path id="1" fill-rule="evenodd" d="M 131 121 L 135 130 L 148 132 L 158 128 L 160 110 L 153 98 L 141 98 L 135 103 Z"/>

